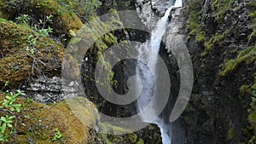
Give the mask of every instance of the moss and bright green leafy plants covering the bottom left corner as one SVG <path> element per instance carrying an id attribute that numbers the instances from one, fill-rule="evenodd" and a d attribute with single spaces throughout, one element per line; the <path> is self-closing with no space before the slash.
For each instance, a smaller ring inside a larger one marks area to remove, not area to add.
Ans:
<path id="1" fill-rule="evenodd" d="M 90 139 L 89 128 L 74 115 L 67 101 L 48 106 L 35 101 L 27 102 L 26 99 L 20 97 L 21 94 L 20 91 L 13 95 L 0 93 L 2 107 L 0 109 L 0 141 L 2 143 L 88 142 Z M 79 110 L 80 113 L 83 113 L 83 117 L 88 120 L 88 123 L 96 123 L 98 115 L 95 115 L 96 108 L 92 106 L 93 104 L 88 103 L 86 98 L 71 100 L 83 101 L 84 105 Z M 7 102 L 8 105 L 6 105 Z"/>

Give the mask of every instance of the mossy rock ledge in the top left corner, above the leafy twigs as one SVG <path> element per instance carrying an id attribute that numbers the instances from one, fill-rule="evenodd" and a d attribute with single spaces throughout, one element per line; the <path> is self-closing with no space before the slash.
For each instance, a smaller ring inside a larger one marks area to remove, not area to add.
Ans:
<path id="1" fill-rule="evenodd" d="M 79 16 L 72 9 L 67 9 L 55 0 L 22 0 L 22 1 L 0 1 L 2 16 L 5 19 L 15 19 L 16 13 L 22 9 L 29 9 L 35 19 L 42 15 L 53 15 L 53 28 L 55 32 L 67 33 L 69 30 L 77 31 L 82 25 Z"/>

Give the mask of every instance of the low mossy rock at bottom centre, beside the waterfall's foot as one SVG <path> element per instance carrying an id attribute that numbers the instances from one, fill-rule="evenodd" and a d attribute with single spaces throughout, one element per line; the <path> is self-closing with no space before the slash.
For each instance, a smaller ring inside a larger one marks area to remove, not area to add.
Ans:
<path id="1" fill-rule="evenodd" d="M 96 144 L 156 144 L 161 143 L 159 128 L 154 124 L 149 124 L 143 130 L 132 132 L 131 130 L 113 126 L 108 123 L 100 123 L 100 130 L 96 135 L 92 135 L 90 143 Z M 108 130 L 108 131 L 107 131 Z M 125 134 L 125 135 L 124 135 Z"/>

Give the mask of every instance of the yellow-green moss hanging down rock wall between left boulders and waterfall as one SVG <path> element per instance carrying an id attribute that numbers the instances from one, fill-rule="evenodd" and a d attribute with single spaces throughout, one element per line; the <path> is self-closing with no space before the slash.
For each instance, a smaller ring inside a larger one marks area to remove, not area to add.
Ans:
<path id="1" fill-rule="evenodd" d="M 116 12 L 115 10 L 112 10 L 112 11 Z M 81 43 L 91 44 L 91 45 L 87 45 L 87 47 L 90 47 L 88 52 L 90 54 L 96 55 L 95 63 L 97 63 L 97 66 L 99 67 L 98 72 L 102 72 L 104 74 L 106 74 L 106 72 L 109 73 L 109 77 L 105 79 L 101 79 L 102 80 L 101 82 L 99 82 L 99 79 L 94 79 L 93 81 L 95 81 L 96 84 L 101 84 L 102 86 L 106 86 L 108 89 L 108 92 L 110 92 L 110 90 L 112 89 L 112 86 L 116 86 L 116 81 L 113 79 L 114 73 L 112 71 L 112 67 L 110 66 L 110 63 L 108 62 L 108 58 L 104 57 L 104 52 L 108 48 L 119 43 L 117 37 L 114 37 L 112 33 L 113 30 L 115 29 L 124 30 L 124 26 L 122 25 L 122 23 L 119 20 L 117 20 L 119 16 L 115 16 L 115 17 L 116 19 L 112 17 L 106 22 L 102 22 L 98 17 L 91 18 L 90 24 L 86 23 L 84 26 L 82 26 L 81 30 L 79 30 L 79 32 L 76 33 L 76 37 L 71 39 L 72 43 L 70 43 L 69 45 L 70 48 L 73 48 L 74 52 L 78 52 L 78 51 L 82 52 L 84 51 L 84 47 L 81 48 L 79 46 L 81 45 Z M 116 25 L 117 24 L 116 21 L 119 21 L 118 25 Z M 76 40 L 77 37 L 81 37 L 82 39 L 79 39 L 79 42 L 78 42 L 78 40 Z M 123 43 L 123 45 L 128 46 L 128 43 Z M 120 49 L 124 49 L 124 47 L 120 47 Z M 73 53 L 73 51 L 70 51 L 70 52 Z M 111 53 L 110 55 L 113 56 L 112 57 L 113 59 L 115 58 L 113 53 Z M 87 77 L 86 74 L 84 73 L 82 74 L 82 76 Z"/>

